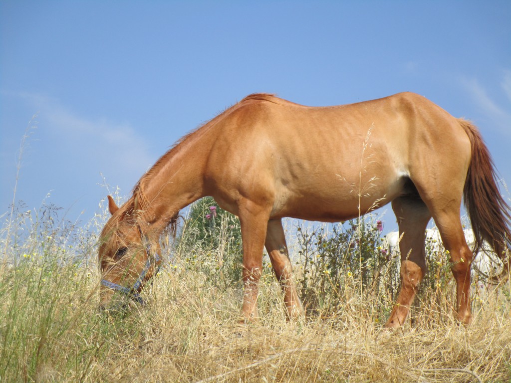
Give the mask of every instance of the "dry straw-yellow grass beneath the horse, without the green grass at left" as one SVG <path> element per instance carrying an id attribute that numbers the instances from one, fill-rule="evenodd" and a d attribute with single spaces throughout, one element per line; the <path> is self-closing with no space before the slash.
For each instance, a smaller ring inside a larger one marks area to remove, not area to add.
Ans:
<path id="1" fill-rule="evenodd" d="M 91 370 L 107 381 L 509 381 L 509 301 L 492 295 L 464 328 L 428 315 L 388 332 L 352 299 L 328 319 L 287 322 L 276 283 L 264 286 L 261 321 L 239 325 L 239 291 L 192 275 L 159 277 L 149 306 L 131 313 L 124 339 Z M 505 307 L 503 307 L 505 305 Z M 94 380 L 92 379 L 92 380 Z"/>

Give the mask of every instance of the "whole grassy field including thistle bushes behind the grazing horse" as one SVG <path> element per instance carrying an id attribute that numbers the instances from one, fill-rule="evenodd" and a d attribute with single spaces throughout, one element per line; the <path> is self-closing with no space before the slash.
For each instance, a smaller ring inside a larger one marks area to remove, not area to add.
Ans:
<path id="1" fill-rule="evenodd" d="M 95 245 L 105 217 L 78 229 L 44 206 L 38 212 L 18 207 L 4 220 L 2 382 L 511 380 L 509 283 L 494 291 L 476 280 L 474 321 L 460 326 L 452 316 L 445 254 L 430 254 L 430 276 L 410 320 L 386 331 L 395 276 L 372 224 L 337 234 L 288 228 L 307 318 L 286 321 L 280 288 L 265 262 L 260 322 L 240 325 L 239 243 L 230 243 L 237 237 L 222 226 L 235 229 L 231 222 L 218 223 L 214 246 L 170 246 L 166 267 L 144 291 L 146 305 L 109 315 L 97 309 Z M 357 233 L 358 247 L 342 248 Z"/>

